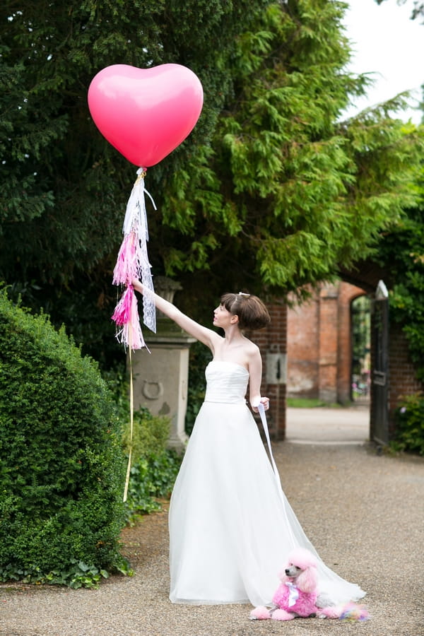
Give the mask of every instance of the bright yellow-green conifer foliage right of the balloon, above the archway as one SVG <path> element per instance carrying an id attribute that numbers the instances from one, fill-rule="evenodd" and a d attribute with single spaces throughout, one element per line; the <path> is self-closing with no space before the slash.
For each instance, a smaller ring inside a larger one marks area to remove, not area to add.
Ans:
<path id="1" fill-rule="evenodd" d="M 172 273 L 209 269 L 215 293 L 222 280 L 295 290 L 369 251 L 414 200 L 421 142 L 391 118 L 402 98 L 341 121 L 349 96 L 366 86 L 344 70 L 344 8 L 272 4 L 239 38 L 235 99 L 221 113 L 213 156 L 199 181 L 190 165 L 165 192 L 166 223 L 185 230 L 178 248 L 164 242 Z"/>

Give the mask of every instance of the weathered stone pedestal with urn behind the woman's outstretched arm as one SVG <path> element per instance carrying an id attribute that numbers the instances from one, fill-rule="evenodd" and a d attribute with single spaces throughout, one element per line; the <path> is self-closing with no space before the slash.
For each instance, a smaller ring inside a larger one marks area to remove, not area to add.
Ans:
<path id="1" fill-rule="evenodd" d="M 172 302 L 179 283 L 158 276 L 155 291 Z M 155 416 L 171 420 L 168 446 L 181 452 L 187 443 L 184 430 L 189 378 L 189 347 L 195 341 L 172 320 L 157 311 L 156 333 L 144 333 L 146 349 L 133 353 L 134 408 L 145 406 Z"/>

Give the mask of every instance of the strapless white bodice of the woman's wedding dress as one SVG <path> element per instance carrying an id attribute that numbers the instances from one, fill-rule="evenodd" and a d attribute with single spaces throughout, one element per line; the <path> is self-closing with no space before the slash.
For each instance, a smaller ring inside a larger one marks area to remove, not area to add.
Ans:
<path id="1" fill-rule="evenodd" d="M 212 360 L 205 371 L 205 402 L 245 402 L 249 371 L 236 363 Z"/>

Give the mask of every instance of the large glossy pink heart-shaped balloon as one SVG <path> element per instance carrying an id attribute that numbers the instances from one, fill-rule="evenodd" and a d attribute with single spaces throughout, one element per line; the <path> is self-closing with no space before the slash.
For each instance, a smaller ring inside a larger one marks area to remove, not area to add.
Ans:
<path id="1" fill-rule="evenodd" d="M 139 167 L 155 165 L 194 129 L 203 105 L 199 78 L 180 64 L 137 69 L 114 64 L 88 88 L 88 107 L 103 136 Z"/>

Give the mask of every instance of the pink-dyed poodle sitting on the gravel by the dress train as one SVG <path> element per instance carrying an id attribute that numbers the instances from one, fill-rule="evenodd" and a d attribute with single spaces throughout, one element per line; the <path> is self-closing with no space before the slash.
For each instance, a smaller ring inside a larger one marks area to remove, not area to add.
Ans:
<path id="1" fill-rule="evenodd" d="M 317 558 L 305 548 L 296 548 L 288 555 L 288 563 L 280 572 L 281 584 L 273 595 L 273 607 L 260 606 L 250 613 L 252 620 L 273 618 L 292 620 L 319 616 L 319 618 L 346 618 L 367 620 L 367 611 L 362 606 L 349 603 L 343 607 L 317 606 Z M 318 601 L 319 602 L 319 601 Z"/>

